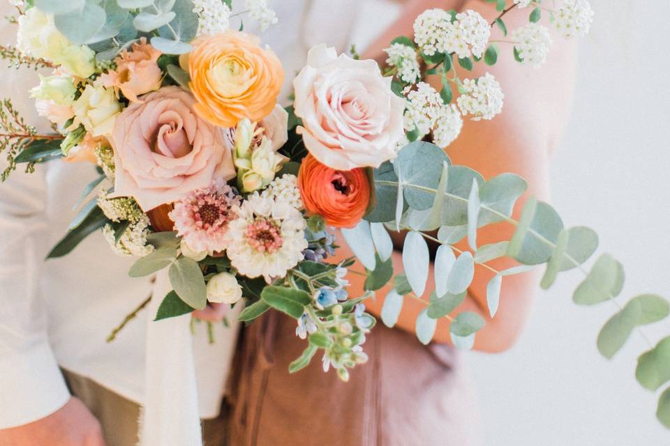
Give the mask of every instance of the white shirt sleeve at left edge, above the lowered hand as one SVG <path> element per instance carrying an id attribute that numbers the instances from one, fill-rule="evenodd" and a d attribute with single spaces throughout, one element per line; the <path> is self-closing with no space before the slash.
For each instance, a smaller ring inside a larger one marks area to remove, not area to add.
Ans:
<path id="1" fill-rule="evenodd" d="M 0 16 L 13 12 L 7 1 Z M 0 41 L 15 41 L 16 25 L 0 21 Z M 13 98 L 27 122 L 43 128 L 28 90 L 36 73 L 0 64 L 0 98 Z M 41 129 L 40 129 L 41 130 Z M 0 169 L 7 165 L 0 154 Z M 43 418 L 70 398 L 47 338 L 47 314 L 39 289 L 40 270 L 47 268 L 38 235 L 48 229 L 45 216 L 45 167 L 24 174 L 20 164 L 0 183 L 0 429 Z M 38 254 L 39 253 L 39 254 Z"/>

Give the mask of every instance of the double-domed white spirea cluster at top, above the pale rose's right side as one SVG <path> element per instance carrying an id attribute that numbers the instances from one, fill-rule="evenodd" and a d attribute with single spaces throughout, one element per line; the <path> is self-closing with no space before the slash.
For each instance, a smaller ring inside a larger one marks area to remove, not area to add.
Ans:
<path id="1" fill-rule="evenodd" d="M 452 15 L 441 9 L 429 9 L 414 22 L 415 42 L 424 54 L 455 52 L 462 59 L 472 54 L 481 57 L 491 37 L 491 26 L 473 10 Z"/>

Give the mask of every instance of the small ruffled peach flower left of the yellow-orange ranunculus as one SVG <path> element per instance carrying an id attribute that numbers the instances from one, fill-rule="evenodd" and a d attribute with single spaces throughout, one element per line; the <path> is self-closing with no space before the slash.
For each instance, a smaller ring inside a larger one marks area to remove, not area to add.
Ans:
<path id="1" fill-rule="evenodd" d="M 132 49 L 119 54 L 115 60 L 117 68 L 102 75 L 101 79 L 106 87 L 113 86 L 128 100 L 137 102 L 137 96 L 161 88 L 163 72 L 158 67 L 158 58 L 163 53 L 149 45 L 144 37 L 140 43 L 133 43 Z"/>

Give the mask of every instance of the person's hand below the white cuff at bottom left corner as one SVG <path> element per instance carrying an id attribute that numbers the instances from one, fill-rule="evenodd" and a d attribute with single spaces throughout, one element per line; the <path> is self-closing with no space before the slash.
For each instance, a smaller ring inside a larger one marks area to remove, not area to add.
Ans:
<path id="1" fill-rule="evenodd" d="M 0 430 L 2 446 L 105 446 L 103 431 L 84 403 L 72 397 L 51 415 Z"/>

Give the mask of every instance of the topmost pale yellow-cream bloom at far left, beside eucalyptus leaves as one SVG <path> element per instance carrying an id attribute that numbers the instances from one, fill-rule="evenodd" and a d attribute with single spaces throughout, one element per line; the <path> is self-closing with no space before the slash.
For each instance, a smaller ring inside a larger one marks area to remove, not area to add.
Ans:
<path id="1" fill-rule="evenodd" d="M 57 63 L 79 77 L 89 77 L 96 71 L 93 50 L 70 42 L 56 29 L 53 17 L 30 8 L 18 22 L 17 47 L 21 52 Z"/>

